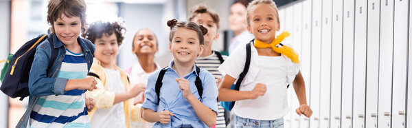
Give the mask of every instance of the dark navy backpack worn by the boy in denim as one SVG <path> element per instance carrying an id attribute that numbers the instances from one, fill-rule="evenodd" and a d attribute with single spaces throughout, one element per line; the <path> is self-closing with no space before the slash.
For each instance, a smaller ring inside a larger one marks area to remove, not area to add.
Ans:
<path id="1" fill-rule="evenodd" d="M 1 78 L 4 78 L 2 79 L 0 87 L 4 94 L 11 98 L 20 97 L 20 100 L 30 96 L 28 87 L 30 68 L 32 67 L 37 46 L 46 39 L 49 40 L 49 44 L 52 46 L 52 57 L 49 58 L 47 66 L 47 76 L 52 77 L 52 72 L 49 72 L 49 70 L 57 58 L 58 49 L 54 48 L 53 35 L 43 34 L 42 36 L 27 41 L 14 55 L 12 55 L 12 59 L 8 60 L 12 66 L 9 66 L 9 63 L 5 63 L 5 66 L 3 67 L 5 72 L 1 72 Z M 94 53 L 93 45 L 87 42 L 85 42 L 85 44 L 89 47 L 91 52 Z"/>

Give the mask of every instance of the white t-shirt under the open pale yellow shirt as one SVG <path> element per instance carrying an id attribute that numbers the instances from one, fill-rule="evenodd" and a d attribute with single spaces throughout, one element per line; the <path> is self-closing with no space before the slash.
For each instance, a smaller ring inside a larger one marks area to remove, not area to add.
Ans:
<path id="1" fill-rule="evenodd" d="M 104 68 L 107 75 L 107 91 L 120 94 L 126 92 L 124 83 L 117 70 Z M 112 107 L 96 109 L 91 118 L 91 127 L 126 127 L 123 102 L 117 103 Z"/>

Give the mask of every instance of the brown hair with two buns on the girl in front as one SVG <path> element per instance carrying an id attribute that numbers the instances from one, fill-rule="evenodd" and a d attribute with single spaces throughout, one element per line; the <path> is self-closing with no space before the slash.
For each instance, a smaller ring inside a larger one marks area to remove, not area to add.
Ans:
<path id="1" fill-rule="evenodd" d="M 198 34 L 199 43 L 200 45 L 205 44 L 205 39 L 203 36 L 207 34 L 207 29 L 203 27 L 203 25 L 197 25 L 194 22 L 177 22 L 176 19 L 172 19 L 168 21 L 168 26 L 170 27 L 170 34 L 169 34 L 169 41 L 172 42 L 174 32 L 176 32 L 177 28 L 186 28 L 189 30 L 194 30 Z"/>

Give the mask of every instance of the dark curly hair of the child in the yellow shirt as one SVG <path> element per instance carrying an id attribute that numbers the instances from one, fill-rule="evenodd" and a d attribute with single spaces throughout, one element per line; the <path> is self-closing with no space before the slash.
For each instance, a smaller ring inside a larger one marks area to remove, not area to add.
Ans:
<path id="1" fill-rule="evenodd" d="M 86 32 L 82 34 L 85 39 L 89 39 L 93 44 L 96 39 L 102 38 L 103 34 L 111 35 L 115 34 L 117 39 L 117 45 L 122 45 L 124 39 L 124 32 L 126 28 L 123 27 L 124 21 L 119 19 L 119 21 L 95 21 L 89 25 Z"/>

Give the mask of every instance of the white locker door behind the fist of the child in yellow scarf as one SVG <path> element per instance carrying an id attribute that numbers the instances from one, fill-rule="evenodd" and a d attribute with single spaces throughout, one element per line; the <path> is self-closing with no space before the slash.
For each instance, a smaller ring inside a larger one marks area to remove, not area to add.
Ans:
<path id="1" fill-rule="evenodd" d="M 306 0 L 302 2 L 302 47 L 301 47 L 301 74 L 304 76 L 306 86 L 306 103 L 310 105 L 310 34 L 311 32 L 311 14 L 312 14 L 312 1 Z M 313 108 L 312 108 L 313 109 Z M 308 128 L 309 121 L 306 116 L 301 116 L 300 121 L 301 128 Z"/>

